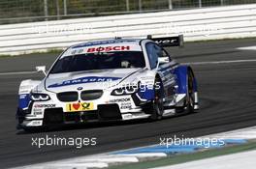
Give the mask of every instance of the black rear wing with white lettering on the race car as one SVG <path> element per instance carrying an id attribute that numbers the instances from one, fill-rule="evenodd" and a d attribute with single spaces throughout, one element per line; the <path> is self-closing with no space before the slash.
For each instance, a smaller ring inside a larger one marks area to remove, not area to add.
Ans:
<path id="1" fill-rule="evenodd" d="M 158 45 L 160 45 L 162 47 L 170 47 L 170 46 L 182 47 L 182 46 L 184 46 L 183 35 L 179 35 L 176 37 L 165 37 L 165 38 L 152 38 L 151 35 L 148 35 L 147 39 L 158 43 Z"/>

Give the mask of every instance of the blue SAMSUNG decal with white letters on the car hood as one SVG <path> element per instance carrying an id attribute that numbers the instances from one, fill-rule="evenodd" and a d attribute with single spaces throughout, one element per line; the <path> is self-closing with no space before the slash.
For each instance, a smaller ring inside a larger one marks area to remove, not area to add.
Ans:
<path id="1" fill-rule="evenodd" d="M 56 88 L 62 86 L 69 86 L 69 85 L 77 85 L 82 83 L 95 83 L 95 82 L 112 82 L 114 80 L 119 80 L 120 77 L 98 77 L 98 76 L 87 76 L 81 77 L 73 80 L 66 80 L 61 83 L 54 83 L 48 86 L 48 88 Z"/>

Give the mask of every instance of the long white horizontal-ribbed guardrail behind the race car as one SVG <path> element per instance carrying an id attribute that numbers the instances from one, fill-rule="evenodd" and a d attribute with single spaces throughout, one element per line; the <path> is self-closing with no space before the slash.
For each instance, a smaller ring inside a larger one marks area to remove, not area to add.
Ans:
<path id="1" fill-rule="evenodd" d="M 65 48 L 114 37 L 167 37 L 185 42 L 256 37 L 256 4 L 0 26 L 0 54 Z"/>

